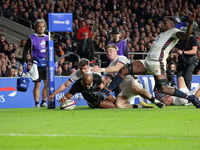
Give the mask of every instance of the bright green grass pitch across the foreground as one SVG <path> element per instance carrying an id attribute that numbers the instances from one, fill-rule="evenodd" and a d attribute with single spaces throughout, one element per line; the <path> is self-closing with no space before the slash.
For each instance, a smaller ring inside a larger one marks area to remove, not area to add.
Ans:
<path id="1" fill-rule="evenodd" d="M 0 109 L 1 150 L 197 150 L 200 110 Z"/>

